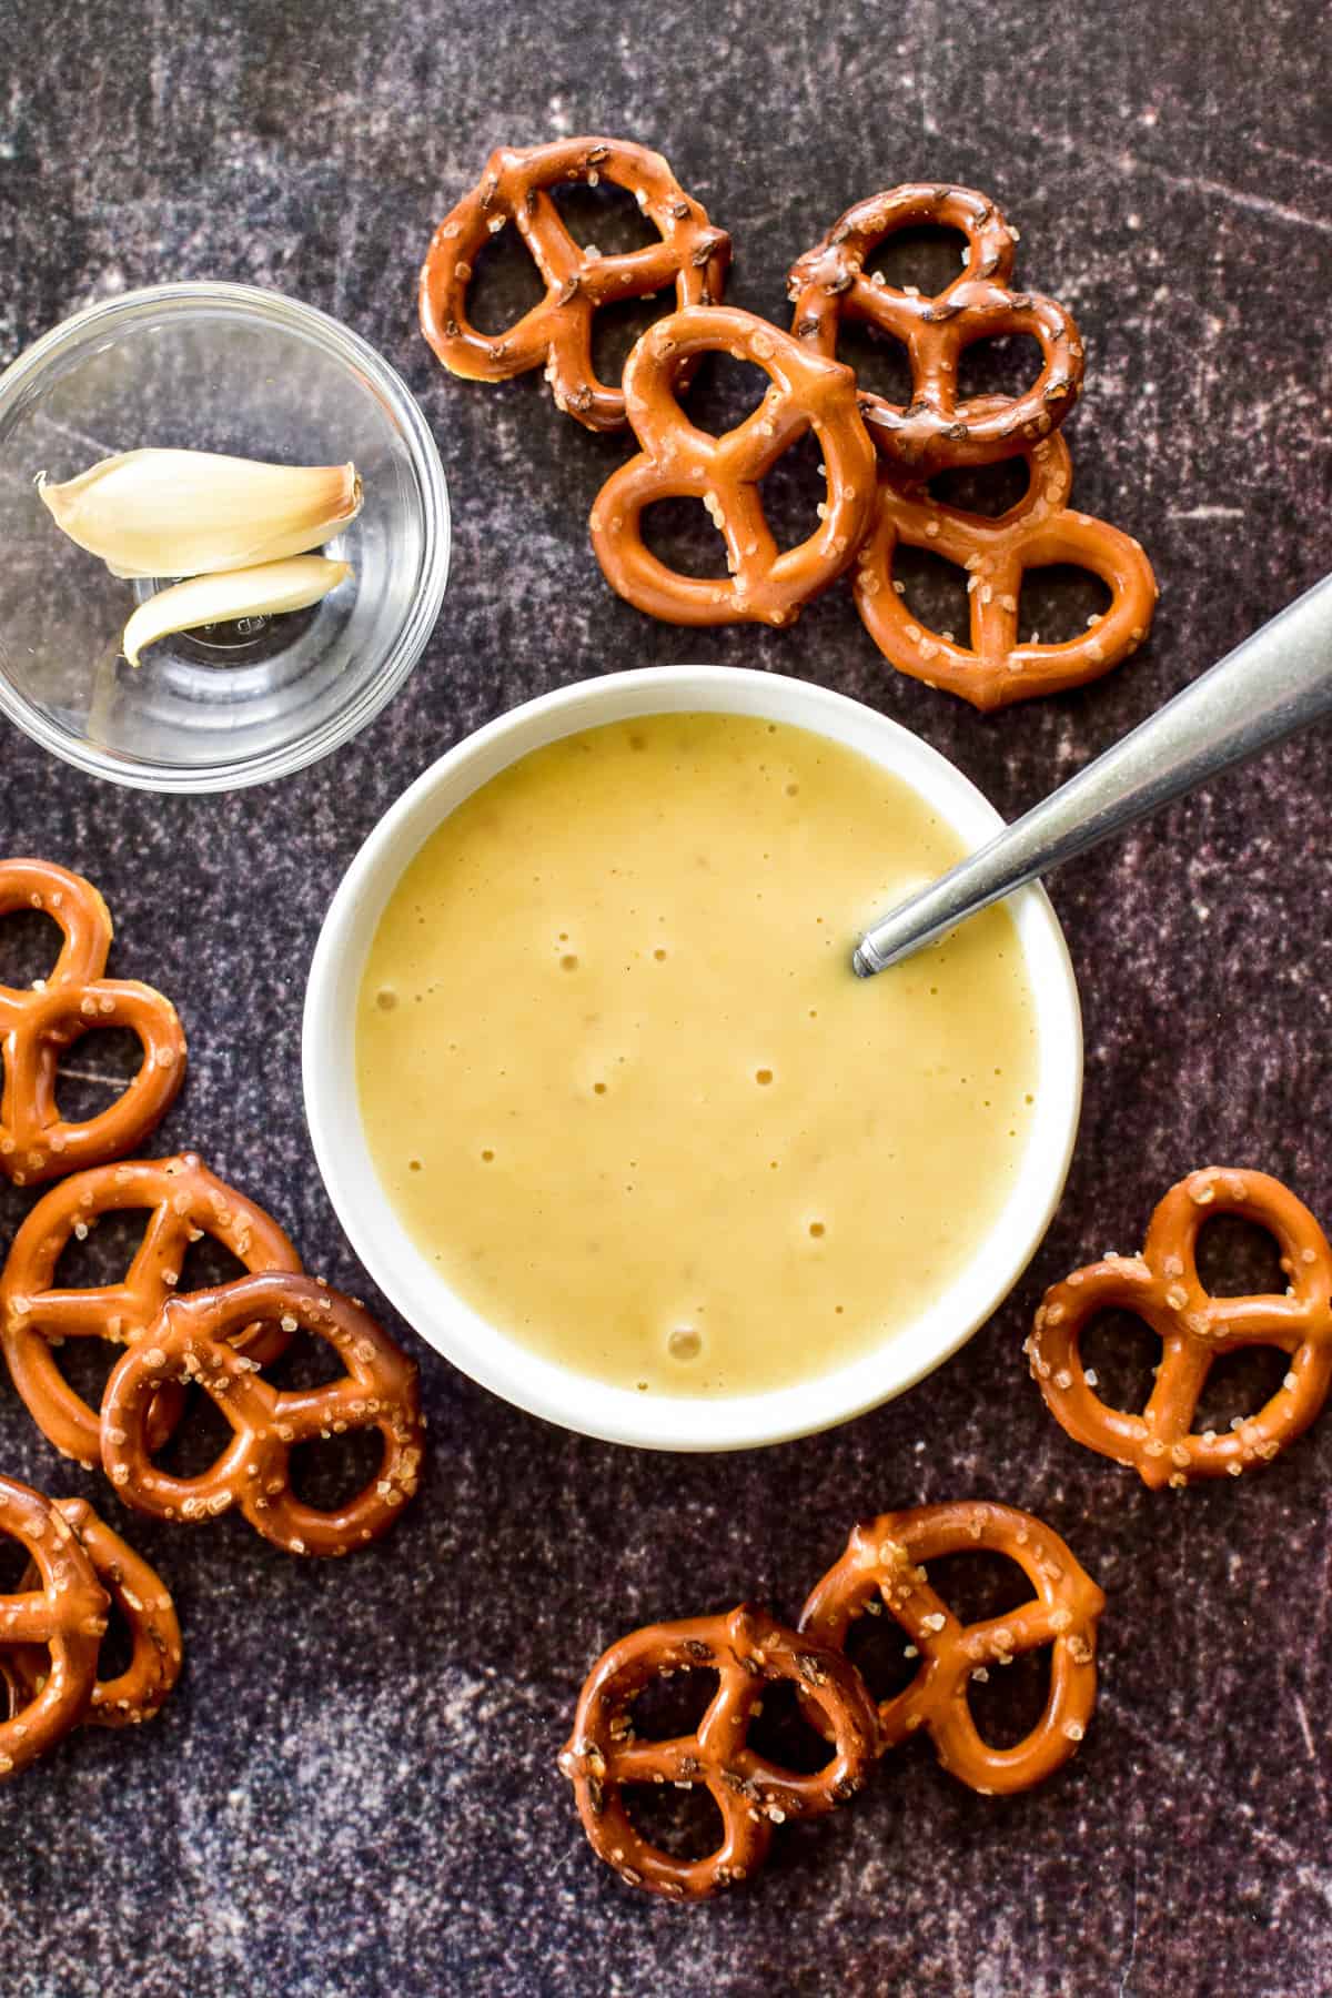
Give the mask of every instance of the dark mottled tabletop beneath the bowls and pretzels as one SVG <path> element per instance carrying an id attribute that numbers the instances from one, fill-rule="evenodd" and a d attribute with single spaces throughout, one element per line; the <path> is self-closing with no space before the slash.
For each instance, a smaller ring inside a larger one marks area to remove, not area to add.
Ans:
<path id="1" fill-rule="evenodd" d="M 198 1145 L 341 1287 L 365 1291 L 302 1117 L 304 975 L 359 841 L 449 743 L 585 673 L 709 657 L 885 709 L 1012 815 L 1328 565 L 1332 50 L 1314 4 L 549 0 L 523 20 L 90 0 L 12 8 L 6 40 L 0 362 L 160 278 L 276 286 L 403 372 L 449 476 L 429 649 L 320 767 L 144 797 L 4 727 L 0 851 L 90 873 L 112 967 L 186 1019 L 190 1081 L 158 1147 Z M 491 146 L 571 132 L 665 150 L 735 238 L 731 300 L 777 318 L 789 260 L 849 202 L 913 178 L 995 194 L 1022 282 L 1086 336 L 1076 501 L 1146 543 L 1150 645 L 1082 693 L 983 717 L 893 675 L 845 589 L 795 633 L 687 633 L 611 597 L 583 513 L 623 444 L 557 418 L 535 380 L 451 382 L 415 328 L 431 228 Z M 1086 1011 L 1066 1199 L 993 1323 L 833 1435 L 635 1455 L 417 1347 L 423 1493 L 383 1546 L 320 1564 L 240 1518 L 128 1520 L 6 1385 L 4 1471 L 128 1524 L 176 1590 L 188 1670 L 152 1726 L 84 1732 L 0 1794 L 4 1988 L 1332 1988 L 1332 1417 L 1262 1477 L 1154 1497 L 1052 1425 L 1020 1353 L 1042 1287 L 1136 1247 L 1190 1167 L 1262 1167 L 1332 1221 L 1326 791 L 1326 737 L 1294 741 L 1054 881 Z M 0 1199 L 6 1237 L 26 1207 Z M 681 1910 L 623 1888 L 555 1772 L 597 1652 L 745 1594 L 795 1614 L 857 1516 L 959 1495 L 1040 1514 L 1108 1594 L 1076 1760 L 983 1798 L 915 1742 L 855 1808 L 781 1838 L 753 1890 Z"/>

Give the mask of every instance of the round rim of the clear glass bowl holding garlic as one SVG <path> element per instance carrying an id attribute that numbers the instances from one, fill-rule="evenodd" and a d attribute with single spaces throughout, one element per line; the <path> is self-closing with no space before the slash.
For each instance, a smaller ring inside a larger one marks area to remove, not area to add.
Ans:
<path id="1" fill-rule="evenodd" d="M 72 348 L 84 346 L 90 336 L 164 310 L 190 312 L 198 306 L 268 320 L 276 330 L 314 340 L 347 368 L 367 378 L 371 390 L 387 404 L 407 438 L 423 507 L 421 579 L 391 651 L 349 707 L 306 735 L 300 735 L 296 741 L 284 743 L 280 749 L 244 757 L 236 763 L 204 763 L 196 769 L 152 761 L 122 763 L 116 757 L 104 755 L 94 743 L 62 729 L 0 675 L 0 713 L 8 715 L 24 735 L 92 777 L 104 777 L 110 783 L 138 791 L 236 791 L 252 783 L 272 783 L 276 777 L 290 777 L 294 771 L 318 763 L 320 757 L 351 741 L 393 697 L 419 659 L 439 617 L 439 605 L 443 603 L 449 579 L 449 494 L 435 440 L 411 390 L 367 340 L 361 340 L 359 334 L 341 326 L 328 312 L 320 312 L 318 306 L 306 306 L 284 292 L 270 292 L 254 284 L 192 278 L 172 284 L 150 284 L 136 292 L 122 292 L 118 298 L 98 300 L 58 326 L 52 326 L 50 332 L 34 340 L 30 348 L 24 348 L 18 360 L 10 362 L 4 374 L 0 374 L 0 418 L 14 400 L 32 388 L 34 380 Z"/>

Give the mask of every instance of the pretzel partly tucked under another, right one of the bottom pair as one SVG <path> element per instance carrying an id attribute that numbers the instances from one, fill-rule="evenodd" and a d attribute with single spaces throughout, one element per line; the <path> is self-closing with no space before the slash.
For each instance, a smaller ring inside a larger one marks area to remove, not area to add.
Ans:
<path id="1" fill-rule="evenodd" d="M 1036 1598 L 987 1622 L 959 1622 L 925 1564 L 977 1548 L 1014 1560 Z M 911 1684 L 879 1706 L 881 1752 L 925 1728 L 949 1774 L 995 1796 L 1030 1788 L 1076 1750 L 1096 1700 L 1104 1596 L 1038 1518 L 981 1498 L 883 1512 L 853 1530 L 805 1604 L 801 1630 L 841 1650 L 853 1620 L 881 1604 L 921 1652 Z M 991 1748 L 971 1718 L 969 1682 L 1040 1644 L 1052 1646 L 1044 1712 L 1014 1748 Z"/>

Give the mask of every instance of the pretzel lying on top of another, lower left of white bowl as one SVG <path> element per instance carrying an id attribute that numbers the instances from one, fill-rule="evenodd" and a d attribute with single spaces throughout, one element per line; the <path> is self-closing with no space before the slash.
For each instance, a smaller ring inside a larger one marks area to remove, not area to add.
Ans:
<path id="1" fill-rule="evenodd" d="M 280 1391 L 232 1345 L 256 1319 L 326 1339 L 345 1375 Z M 194 1381 L 222 1409 L 234 1437 L 200 1477 L 158 1471 L 148 1409 L 168 1381 Z M 377 1429 L 383 1459 L 369 1485 L 333 1510 L 290 1489 L 290 1457 L 314 1437 Z M 292 1554 L 345 1554 L 387 1532 L 415 1493 L 425 1421 L 413 1363 L 349 1297 L 310 1277 L 240 1277 L 216 1291 L 172 1297 L 118 1361 L 102 1399 L 102 1467 L 126 1504 L 156 1518 L 216 1518 L 240 1506 L 252 1526 Z"/>

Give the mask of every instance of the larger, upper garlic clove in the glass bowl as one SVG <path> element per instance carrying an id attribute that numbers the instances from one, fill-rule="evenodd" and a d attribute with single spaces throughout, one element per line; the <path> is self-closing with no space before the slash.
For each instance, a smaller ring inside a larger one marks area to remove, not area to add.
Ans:
<path id="1" fill-rule="evenodd" d="M 214 575 L 332 541 L 361 509 L 355 466 L 266 466 L 220 452 L 118 452 L 38 494 L 112 575 Z"/>

